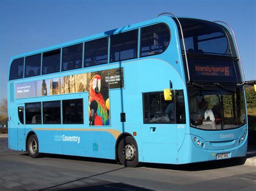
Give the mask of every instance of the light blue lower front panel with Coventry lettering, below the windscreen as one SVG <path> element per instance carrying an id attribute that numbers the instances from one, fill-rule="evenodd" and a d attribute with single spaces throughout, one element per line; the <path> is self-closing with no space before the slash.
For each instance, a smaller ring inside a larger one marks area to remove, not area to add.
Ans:
<path id="1" fill-rule="evenodd" d="M 238 129 L 225 131 L 205 131 L 191 128 L 192 134 L 186 134 L 184 143 L 178 152 L 178 164 L 217 160 L 217 154 L 223 153 L 229 153 L 228 158 L 243 157 L 247 151 L 247 132 L 247 124 Z M 246 133 L 246 137 L 240 143 L 239 139 L 244 133 Z M 221 136 L 223 138 L 220 138 Z M 197 138 L 196 141 L 193 140 L 194 137 Z M 200 141 L 199 145 L 197 145 L 198 140 Z M 204 143 L 203 147 L 201 143 Z"/>

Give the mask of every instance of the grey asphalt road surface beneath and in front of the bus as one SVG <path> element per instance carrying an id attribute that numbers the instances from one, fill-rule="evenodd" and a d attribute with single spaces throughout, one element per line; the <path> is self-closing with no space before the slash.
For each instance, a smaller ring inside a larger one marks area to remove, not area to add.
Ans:
<path id="1" fill-rule="evenodd" d="M 112 160 L 55 154 L 32 159 L 0 138 L 0 190 L 256 190 L 256 167 L 243 162 L 125 168 Z"/>

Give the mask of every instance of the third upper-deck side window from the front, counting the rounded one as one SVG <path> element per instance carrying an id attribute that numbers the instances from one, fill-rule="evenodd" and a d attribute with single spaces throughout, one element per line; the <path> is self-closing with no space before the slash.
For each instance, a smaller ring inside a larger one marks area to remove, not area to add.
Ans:
<path id="1" fill-rule="evenodd" d="M 107 63 L 107 37 L 84 43 L 84 67 Z"/>

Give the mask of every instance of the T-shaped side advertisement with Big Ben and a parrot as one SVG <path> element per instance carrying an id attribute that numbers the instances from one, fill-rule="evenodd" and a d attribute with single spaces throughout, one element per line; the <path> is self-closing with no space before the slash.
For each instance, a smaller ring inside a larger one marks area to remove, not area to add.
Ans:
<path id="1" fill-rule="evenodd" d="M 89 125 L 110 125 L 109 90 L 124 87 L 124 68 L 16 84 L 16 98 L 89 92 Z"/>

